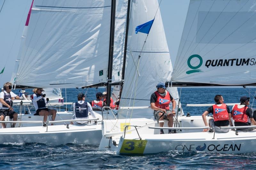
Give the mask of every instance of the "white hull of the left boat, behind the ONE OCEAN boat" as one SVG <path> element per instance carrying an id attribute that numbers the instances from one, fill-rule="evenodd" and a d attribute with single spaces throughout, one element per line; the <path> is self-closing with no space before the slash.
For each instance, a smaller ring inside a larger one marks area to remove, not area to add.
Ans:
<path id="1" fill-rule="evenodd" d="M 68 143 L 97 145 L 102 137 L 101 123 L 86 125 L 54 125 L 46 127 L 5 128 L 0 131 L 0 143 L 44 143 L 61 145 Z"/>

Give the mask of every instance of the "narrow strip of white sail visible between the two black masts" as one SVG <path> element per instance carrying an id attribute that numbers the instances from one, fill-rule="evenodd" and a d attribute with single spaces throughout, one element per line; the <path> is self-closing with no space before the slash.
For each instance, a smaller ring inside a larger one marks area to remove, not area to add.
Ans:
<path id="1" fill-rule="evenodd" d="M 127 4 L 128 0 L 116 1 L 112 82 L 119 82 L 122 79 Z"/>

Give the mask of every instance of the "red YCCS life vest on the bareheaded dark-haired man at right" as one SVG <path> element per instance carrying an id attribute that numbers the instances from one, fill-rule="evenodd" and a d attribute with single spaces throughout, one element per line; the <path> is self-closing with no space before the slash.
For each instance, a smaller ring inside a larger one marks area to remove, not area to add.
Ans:
<path id="1" fill-rule="evenodd" d="M 214 121 L 228 120 L 228 111 L 226 104 L 222 103 L 221 106 L 217 106 L 217 104 L 214 104 L 212 107 Z"/>

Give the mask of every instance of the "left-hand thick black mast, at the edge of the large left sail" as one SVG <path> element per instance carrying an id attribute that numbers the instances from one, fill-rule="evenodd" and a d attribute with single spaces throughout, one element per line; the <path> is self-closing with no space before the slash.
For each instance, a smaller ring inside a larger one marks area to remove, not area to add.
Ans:
<path id="1" fill-rule="evenodd" d="M 116 0 L 111 2 L 111 21 L 110 21 L 110 40 L 109 40 L 109 55 L 108 55 L 108 82 L 107 82 L 107 106 L 110 106 L 111 82 L 113 69 L 113 54 L 114 54 L 114 37 L 115 37 L 115 18 L 116 18 Z"/>

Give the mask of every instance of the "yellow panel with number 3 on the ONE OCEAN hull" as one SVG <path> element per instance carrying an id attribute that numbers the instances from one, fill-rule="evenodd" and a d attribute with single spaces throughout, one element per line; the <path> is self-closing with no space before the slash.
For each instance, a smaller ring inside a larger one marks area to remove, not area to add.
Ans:
<path id="1" fill-rule="evenodd" d="M 124 139 L 120 153 L 143 153 L 147 140 Z"/>

